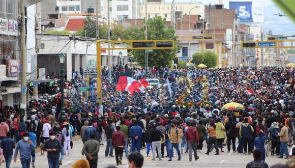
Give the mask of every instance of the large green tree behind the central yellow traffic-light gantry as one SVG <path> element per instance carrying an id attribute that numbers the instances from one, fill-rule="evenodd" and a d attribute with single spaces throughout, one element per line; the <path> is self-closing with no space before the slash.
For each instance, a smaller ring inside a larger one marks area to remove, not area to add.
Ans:
<path id="1" fill-rule="evenodd" d="M 143 23 L 145 21 L 143 20 Z M 126 40 L 144 40 L 143 27 L 132 27 L 126 30 Z M 175 31 L 173 27 L 166 28 L 166 19 L 161 17 L 154 17 L 147 20 L 147 39 L 149 40 L 175 40 Z M 141 66 L 144 66 L 144 50 L 131 50 L 134 60 Z M 175 49 L 154 49 L 149 53 L 149 67 L 156 66 L 170 66 L 172 60 L 175 58 L 177 47 Z"/>

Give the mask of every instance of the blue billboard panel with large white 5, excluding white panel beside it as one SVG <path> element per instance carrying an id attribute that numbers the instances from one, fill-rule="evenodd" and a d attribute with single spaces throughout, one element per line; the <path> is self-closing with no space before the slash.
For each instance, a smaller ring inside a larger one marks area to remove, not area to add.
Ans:
<path id="1" fill-rule="evenodd" d="M 252 2 L 229 2 L 229 9 L 237 9 L 237 20 L 253 22 Z"/>

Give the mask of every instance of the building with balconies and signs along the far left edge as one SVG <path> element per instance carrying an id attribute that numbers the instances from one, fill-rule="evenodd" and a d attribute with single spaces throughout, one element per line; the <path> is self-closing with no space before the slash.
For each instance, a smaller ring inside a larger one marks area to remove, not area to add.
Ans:
<path id="1" fill-rule="evenodd" d="M 17 0 L 0 1 L 0 108 L 20 97 L 17 5 Z"/>

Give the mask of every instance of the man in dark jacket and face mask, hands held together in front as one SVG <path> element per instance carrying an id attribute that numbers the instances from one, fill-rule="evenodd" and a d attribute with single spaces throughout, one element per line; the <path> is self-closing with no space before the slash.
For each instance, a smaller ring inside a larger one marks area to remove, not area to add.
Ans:
<path id="1" fill-rule="evenodd" d="M 47 159 L 49 168 L 60 167 L 60 152 L 62 150 L 62 144 L 60 140 L 55 138 L 55 132 L 49 133 L 50 138 L 45 141 L 43 150 L 47 151 Z"/>

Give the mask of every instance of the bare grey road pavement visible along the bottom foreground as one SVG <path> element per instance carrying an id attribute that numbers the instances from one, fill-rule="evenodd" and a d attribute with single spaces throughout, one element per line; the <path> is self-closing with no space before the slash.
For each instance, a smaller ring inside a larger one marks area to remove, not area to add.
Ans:
<path id="1" fill-rule="evenodd" d="M 71 163 L 73 163 L 75 160 L 84 158 L 84 156 L 81 155 L 81 149 L 82 149 L 82 142 L 79 140 L 74 141 L 74 147 L 71 151 L 71 155 L 67 155 L 64 157 L 63 165 L 61 167 L 71 167 Z M 204 143 L 205 149 L 206 145 Z M 115 158 L 105 158 L 104 156 L 105 152 L 105 145 L 101 146 L 99 151 L 99 161 L 98 161 L 98 167 L 106 167 L 108 165 L 115 165 Z M 114 152 L 113 152 L 114 153 Z M 152 157 L 145 157 L 146 150 L 143 149 L 141 151 L 142 154 L 144 154 L 144 164 L 143 167 L 147 168 L 155 168 L 155 167 L 246 167 L 246 164 L 253 160 L 252 155 L 243 155 L 238 153 L 221 153 L 220 155 L 214 155 L 214 153 L 210 153 L 210 155 L 205 155 L 204 152 L 198 153 L 200 159 L 197 161 L 189 162 L 188 154 L 182 154 L 182 160 L 177 161 L 177 158 L 172 158 L 171 162 L 168 162 L 168 158 L 164 158 L 162 161 L 159 161 L 156 159 L 156 161 L 152 161 Z M 176 151 L 174 151 L 176 153 Z M 150 153 L 152 155 L 152 153 Z M 166 155 L 166 151 L 165 151 Z M 36 154 L 36 167 L 48 167 L 47 163 L 47 154 L 44 153 L 44 156 L 40 155 L 40 152 Z M 280 159 L 275 156 L 267 157 L 266 162 L 271 166 L 275 163 L 285 163 L 286 159 Z M 124 156 L 123 158 L 123 164 L 119 167 L 126 167 L 127 160 Z M 12 162 L 11 167 L 21 167 L 20 160 L 18 159 L 17 162 Z"/>

